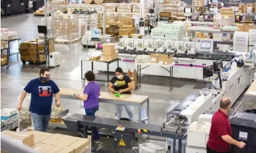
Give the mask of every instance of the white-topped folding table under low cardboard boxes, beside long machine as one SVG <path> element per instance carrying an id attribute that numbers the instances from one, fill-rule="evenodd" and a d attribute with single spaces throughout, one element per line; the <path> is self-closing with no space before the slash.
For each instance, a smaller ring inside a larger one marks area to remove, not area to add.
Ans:
<path id="1" fill-rule="evenodd" d="M 174 73 L 174 65 L 175 65 L 175 62 L 174 63 L 171 63 L 169 65 L 163 65 L 163 64 L 158 64 L 158 63 L 135 63 L 135 65 L 137 65 L 137 88 L 141 87 L 141 70 L 142 69 L 145 69 L 147 68 L 148 66 L 160 66 L 161 68 L 163 69 L 166 69 L 166 71 L 169 72 L 170 74 L 170 77 L 169 77 L 169 87 L 170 87 L 170 90 L 169 91 L 172 91 L 174 89 L 173 87 L 173 84 L 172 84 L 172 77 L 173 77 L 173 73 Z M 144 65 L 144 68 L 141 68 L 141 65 Z M 169 69 L 167 69 L 169 68 Z"/>

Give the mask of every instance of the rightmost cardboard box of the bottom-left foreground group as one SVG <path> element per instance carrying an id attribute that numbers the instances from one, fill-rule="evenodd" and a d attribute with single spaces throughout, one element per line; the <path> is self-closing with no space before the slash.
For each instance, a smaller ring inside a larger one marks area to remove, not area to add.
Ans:
<path id="1" fill-rule="evenodd" d="M 87 146 L 89 146 L 90 140 L 87 138 L 78 138 L 77 141 L 75 141 L 73 144 L 68 146 L 68 148 L 73 148 L 74 153 L 80 153 L 84 149 L 86 149 Z"/>

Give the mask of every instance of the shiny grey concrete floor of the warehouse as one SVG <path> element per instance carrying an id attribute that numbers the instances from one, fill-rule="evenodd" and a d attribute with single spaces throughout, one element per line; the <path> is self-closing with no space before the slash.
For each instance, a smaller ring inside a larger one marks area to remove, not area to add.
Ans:
<path id="1" fill-rule="evenodd" d="M 1 18 L 1 28 L 9 28 L 18 32 L 21 41 L 38 38 L 37 25 L 41 24 L 42 17 L 32 14 L 15 15 Z M 80 60 L 87 57 L 87 49 L 82 48 L 81 43 L 56 44 L 56 51 L 60 52 L 61 63 L 58 68 L 51 69 L 51 79 L 59 87 L 81 88 L 81 68 Z M 13 43 L 11 52 L 16 52 L 18 44 Z M 23 65 L 20 57 L 13 55 L 10 57 L 9 68 L 1 67 L 1 109 L 16 108 L 18 96 L 29 80 L 38 77 L 39 69 L 31 69 L 33 65 Z M 100 76 L 98 76 L 100 77 Z M 174 90 L 169 92 L 167 78 L 144 77 L 142 87 L 133 91 L 133 94 L 141 94 L 150 97 L 150 123 L 162 124 L 166 121 L 166 113 L 169 112 L 178 102 L 192 92 L 197 92 L 204 87 L 202 82 L 191 82 L 190 80 L 174 80 Z M 102 91 L 108 91 L 104 87 L 104 82 L 100 82 Z M 240 98 L 238 101 L 241 102 Z M 80 109 L 80 102 L 68 99 L 61 99 L 61 105 L 69 109 L 70 113 L 84 113 Z M 239 104 L 239 103 L 238 103 Z M 236 104 L 236 105 L 238 105 Z M 252 103 L 251 103 L 252 104 Z M 145 106 L 146 107 L 146 106 Z M 251 106 L 250 106 L 251 107 Z M 249 107 L 248 107 L 249 108 Z M 137 119 L 137 108 L 134 107 L 135 118 Z M 100 104 L 97 116 L 114 118 L 115 109 L 111 104 Z M 125 112 L 125 116 L 126 112 Z M 53 132 L 53 130 L 51 130 Z M 54 130 L 56 132 L 56 130 Z M 59 130 L 61 133 L 62 130 Z M 165 147 L 165 143 L 159 144 Z M 113 150 L 108 151 L 113 152 Z"/>

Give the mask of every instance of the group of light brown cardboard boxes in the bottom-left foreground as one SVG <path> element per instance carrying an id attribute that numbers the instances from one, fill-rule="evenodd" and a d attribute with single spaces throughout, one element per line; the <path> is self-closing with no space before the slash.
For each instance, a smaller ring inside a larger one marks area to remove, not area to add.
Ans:
<path id="1" fill-rule="evenodd" d="M 20 145 L 29 146 L 34 151 L 40 153 L 89 153 L 90 137 L 78 138 L 69 135 L 37 132 L 29 130 L 27 132 L 13 132 L 4 130 L 1 135 L 9 137 Z M 6 152 L 1 149 L 1 152 Z"/>

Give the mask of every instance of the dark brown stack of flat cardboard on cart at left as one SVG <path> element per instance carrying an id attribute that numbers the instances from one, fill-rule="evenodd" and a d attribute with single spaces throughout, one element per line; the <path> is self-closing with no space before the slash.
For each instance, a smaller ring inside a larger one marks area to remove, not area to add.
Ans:
<path id="1" fill-rule="evenodd" d="M 43 44 L 45 40 L 32 40 L 20 43 L 20 55 L 21 61 L 31 62 L 31 63 L 45 63 L 45 44 Z M 53 52 L 53 40 L 49 41 L 49 52 Z M 38 54 L 38 59 L 37 59 Z"/>

